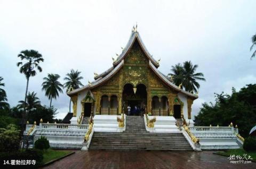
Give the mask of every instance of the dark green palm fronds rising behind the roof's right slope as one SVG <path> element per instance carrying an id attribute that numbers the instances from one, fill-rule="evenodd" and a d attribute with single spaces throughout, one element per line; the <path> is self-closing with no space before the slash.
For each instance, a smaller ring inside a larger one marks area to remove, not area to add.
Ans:
<path id="1" fill-rule="evenodd" d="M 173 83 L 177 86 L 185 88 L 188 92 L 197 92 L 200 87 L 197 80 L 205 81 L 203 73 L 196 73 L 198 65 L 193 65 L 191 61 L 186 61 L 181 65 L 180 63 L 172 66 L 170 73 Z"/>

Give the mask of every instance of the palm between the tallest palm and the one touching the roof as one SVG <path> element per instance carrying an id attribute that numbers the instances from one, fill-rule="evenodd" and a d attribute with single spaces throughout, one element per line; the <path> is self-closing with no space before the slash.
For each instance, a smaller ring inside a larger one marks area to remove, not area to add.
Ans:
<path id="1" fill-rule="evenodd" d="M 47 78 L 44 78 L 44 82 L 42 83 L 42 90 L 45 91 L 45 96 L 47 96 L 50 101 L 50 109 L 52 106 L 52 98 L 56 99 L 59 97 L 59 92 L 63 92 L 61 88 L 63 88 L 63 85 L 58 81 L 60 78 L 59 74 L 49 74 L 47 75 Z"/>

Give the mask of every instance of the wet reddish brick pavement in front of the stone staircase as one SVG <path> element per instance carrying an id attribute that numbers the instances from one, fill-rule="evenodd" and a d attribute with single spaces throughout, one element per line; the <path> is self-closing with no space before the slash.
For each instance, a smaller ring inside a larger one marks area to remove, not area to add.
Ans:
<path id="1" fill-rule="evenodd" d="M 213 151 L 76 151 L 44 168 L 256 168 L 252 164 L 230 164 Z"/>

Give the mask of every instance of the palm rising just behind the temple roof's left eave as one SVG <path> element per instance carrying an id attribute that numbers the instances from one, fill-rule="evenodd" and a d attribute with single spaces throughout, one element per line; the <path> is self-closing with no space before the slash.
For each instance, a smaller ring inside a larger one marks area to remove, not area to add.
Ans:
<path id="1" fill-rule="evenodd" d="M 78 72 L 78 70 L 71 69 L 70 73 L 67 73 L 64 78 L 67 82 L 64 83 L 64 87 L 67 88 L 67 92 L 70 90 L 78 89 L 79 87 L 84 86 L 82 82 L 80 81 L 83 79 L 83 77 L 79 76 L 81 72 Z M 69 113 L 71 111 L 71 98 L 69 100 Z"/>

